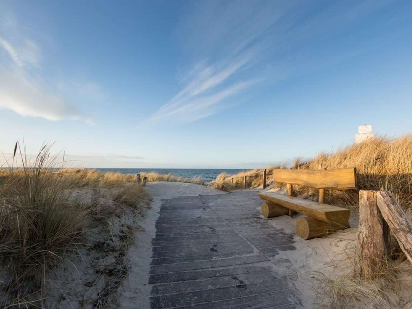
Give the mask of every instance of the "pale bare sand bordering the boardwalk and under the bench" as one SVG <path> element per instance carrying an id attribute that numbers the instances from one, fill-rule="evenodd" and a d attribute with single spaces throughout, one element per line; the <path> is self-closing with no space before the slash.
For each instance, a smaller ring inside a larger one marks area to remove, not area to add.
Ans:
<path id="1" fill-rule="evenodd" d="M 152 255 L 151 241 L 152 237 L 155 236 L 155 222 L 159 215 L 158 211 L 162 199 L 224 193 L 201 185 L 167 182 L 148 183 L 147 190 L 149 190 L 153 201 L 145 218 L 140 222 L 145 231 L 138 234 L 136 246 L 133 246 L 130 252 L 132 269 L 121 297 L 123 308 L 150 308 L 150 286 L 147 282 Z M 236 203 L 236 200 L 233 202 Z M 352 213 L 351 223 L 356 225 L 357 213 L 356 211 Z M 301 217 L 302 215 L 298 214 L 293 218 L 282 216 L 269 220 L 274 227 L 282 227 L 285 232 L 294 233 L 295 221 Z M 279 265 L 279 271 L 292 279 L 293 284 L 301 293 L 300 298 L 303 307 L 316 308 L 322 302 L 319 297 L 323 293 L 322 284 L 318 280 L 321 278 L 321 273 L 333 278 L 350 271 L 352 264 L 347 260 L 344 253 L 353 248 L 355 238 L 356 228 L 309 241 L 295 236 L 294 246 L 296 250 L 280 252 L 278 258 L 288 259 L 291 263 Z"/>

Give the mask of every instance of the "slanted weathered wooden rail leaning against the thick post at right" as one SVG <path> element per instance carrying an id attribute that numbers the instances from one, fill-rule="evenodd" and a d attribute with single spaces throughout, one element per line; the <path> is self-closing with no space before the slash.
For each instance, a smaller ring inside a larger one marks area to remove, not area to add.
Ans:
<path id="1" fill-rule="evenodd" d="M 412 221 L 389 191 L 377 193 L 377 205 L 403 253 L 412 263 Z"/>

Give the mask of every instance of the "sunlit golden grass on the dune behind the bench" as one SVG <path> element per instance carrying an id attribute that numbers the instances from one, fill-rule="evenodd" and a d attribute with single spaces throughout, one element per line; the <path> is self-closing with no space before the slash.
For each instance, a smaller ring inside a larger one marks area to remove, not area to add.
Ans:
<path id="1" fill-rule="evenodd" d="M 412 134 L 398 138 L 378 136 L 360 144 L 342 147 L 335 152 L 321 153 L 307 161 L 296 159 L 293 169 L 344 169 L 356 167 L 358 187 L 360 190 L 391 191 L 404 209 L 412 207 Z M 267 167 L 267 174 L 272 169 L 285 168 L 283 166 Z M 243 188 L 243 176 L 260 171 L 245 171 L 236 175 L 227 176 L 228 180 L 234 177 L 233 187 Z M 269 181 L 270 176 L 267 177 Z M 248 176 L 248 187 L 262 185 L 262 173 Z M 275 187 L 284 184 L 275 183 Z M 309 187 L 294 186 L 295 195 L 302 198 L 317 198 L 318 190 Z M 340 206 L 358 206 L 358 191 L 326 190 L 326 203 Z"/>

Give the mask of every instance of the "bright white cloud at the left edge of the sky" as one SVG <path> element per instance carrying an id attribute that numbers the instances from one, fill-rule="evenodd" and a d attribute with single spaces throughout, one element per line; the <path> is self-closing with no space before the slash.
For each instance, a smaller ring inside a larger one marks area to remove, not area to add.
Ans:
<path id="1" fill-rule="evenodd" d="M 0 14 L 0 109 L 24 117 L 80 120 L 93 123 L 80 108 L 42 82 L 42 52 L 35 40 L 20 31 L 16 18 Z"/>

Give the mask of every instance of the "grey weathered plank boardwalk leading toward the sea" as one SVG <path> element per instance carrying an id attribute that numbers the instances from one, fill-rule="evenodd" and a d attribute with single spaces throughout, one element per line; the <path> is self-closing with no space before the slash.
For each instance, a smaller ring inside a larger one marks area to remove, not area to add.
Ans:
<path id="1" fill-rule="evenodd" d="M 295 249 L 293 235 L 261 218 L 260 203 L 253 191 L 165 200 L 152 241 L 151 307 L 299 307 L 276 266 L 279 250 Z"/>

